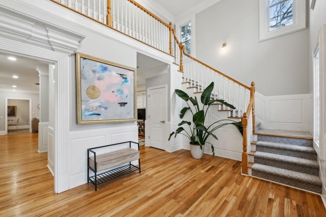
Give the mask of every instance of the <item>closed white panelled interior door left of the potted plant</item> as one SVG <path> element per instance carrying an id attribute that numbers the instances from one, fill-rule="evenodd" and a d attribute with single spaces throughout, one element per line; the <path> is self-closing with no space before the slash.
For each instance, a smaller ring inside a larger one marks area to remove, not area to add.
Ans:
<path id="1" fill-rule="evenodd" d="M 148 108 L 150 122 L 150 147 L 165 150 L 167 92 L 166 87 L 151 88 L 148 90 Z"/>

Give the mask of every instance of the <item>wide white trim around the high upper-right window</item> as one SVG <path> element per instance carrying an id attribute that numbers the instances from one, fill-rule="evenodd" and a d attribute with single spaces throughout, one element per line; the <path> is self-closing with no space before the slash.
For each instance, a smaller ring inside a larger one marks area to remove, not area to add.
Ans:
<path id="1" fill-rule="evenodd" d="M 259 42 L 307 29 L 307 1 L 293 0 L 293 24 L 269 31 L 268 0 L 259 0 Z"/>

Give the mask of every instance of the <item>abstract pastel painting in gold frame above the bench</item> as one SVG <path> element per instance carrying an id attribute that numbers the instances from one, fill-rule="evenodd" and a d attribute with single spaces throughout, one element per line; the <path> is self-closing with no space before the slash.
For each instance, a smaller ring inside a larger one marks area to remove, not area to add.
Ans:
<path id="1" fill-rule="evenodd" d="M 135 121 L 136 70 L 76 53 L 77 124 Z"/>

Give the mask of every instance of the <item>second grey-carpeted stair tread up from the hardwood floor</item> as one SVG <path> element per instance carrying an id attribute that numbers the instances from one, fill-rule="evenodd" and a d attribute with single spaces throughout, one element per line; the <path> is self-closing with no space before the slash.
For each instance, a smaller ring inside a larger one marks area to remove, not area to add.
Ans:
<path id="1" fill-rule="evenodd" d="M 279 161 L 284 161 L 292 164 L 302 165 L 302 166 L 309 166 L 318 168 L 318 162 L 316 160 L 309 160 L 304 158 L 298 158 L 298 157 L 291 157 L 291 156 L 285 156 L 280 154 L 273 154 L 273 153 L 266 153 L 261 151 L 256 151 L 254 156 L 256 157 L 263 157 L 266 159 L 274 159 Z"/>

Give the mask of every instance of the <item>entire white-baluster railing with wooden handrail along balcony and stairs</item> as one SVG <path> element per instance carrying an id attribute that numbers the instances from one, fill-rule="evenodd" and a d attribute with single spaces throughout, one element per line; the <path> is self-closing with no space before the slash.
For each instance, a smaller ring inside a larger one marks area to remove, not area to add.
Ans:
<path id="1" fill-rule="evenodd" d="M 173 56 L 183 72 L 183 81 L 203 91 L 212 81 L 214 98 L 222 98 L 237 107 L 233 117 L 242 118 L 242 173 L 247 174 L 247 156 L 255 131 L 255 86 L 251 87 L 187 55 L 172 23 L 166 23 L 133 0 L 50 0 L 108 28 Z M 243 115 L 241 116 L 241 114 Z"/>

